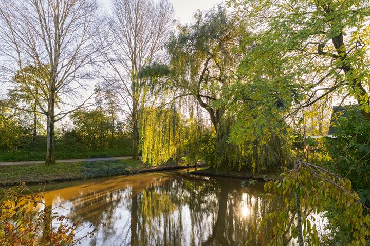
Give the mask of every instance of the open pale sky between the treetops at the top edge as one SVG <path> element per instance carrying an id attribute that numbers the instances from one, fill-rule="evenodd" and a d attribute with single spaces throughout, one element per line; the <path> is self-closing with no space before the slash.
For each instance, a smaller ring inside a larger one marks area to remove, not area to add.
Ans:
<path id="1" fill-rule="evenodd" d="M 98 0 L 107 11 L 110 9 L 110 0 Z M 155 1 L 155 0 L 154 0 Z M 207 10 L 223 3 L 222 0 L 170 0 L 175 9 L 175 19 L 181 24 L 190 23 L 193 13 L 199 10 Z"/>

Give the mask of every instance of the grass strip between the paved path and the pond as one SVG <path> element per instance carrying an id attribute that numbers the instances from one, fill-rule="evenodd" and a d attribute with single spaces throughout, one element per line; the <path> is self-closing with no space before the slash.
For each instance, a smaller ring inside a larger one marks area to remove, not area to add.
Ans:
<path id="1" fill-rule="evenodd" d="M 112 160 L 96 162 L 56 163 L 0 166 L 0 186 L 13 186 L 21 182 L 43 183 L 95 177 L 134 174 L 184 168 L 181 165 L 148 167 L 141 161 Z"/>

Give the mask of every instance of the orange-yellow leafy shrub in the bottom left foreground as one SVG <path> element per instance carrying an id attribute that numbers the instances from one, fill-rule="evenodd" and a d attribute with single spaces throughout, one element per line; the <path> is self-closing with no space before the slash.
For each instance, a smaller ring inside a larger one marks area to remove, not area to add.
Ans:
<path id="1" fill-rule="evenodd" d="M 42 194 L 31 192 L 24 184 L 1 189 L 0 245 L 64 245 L 78 244 L 94 235 L 96 229 L 76 238 L 85 229 L 58 215 L 43 202 Z M 24 193 L 29 193 L 25 195 Z M 87 227 L 91 228 L 93 224 Z M 103 224 L 104 226 L 104 224 Z"/>

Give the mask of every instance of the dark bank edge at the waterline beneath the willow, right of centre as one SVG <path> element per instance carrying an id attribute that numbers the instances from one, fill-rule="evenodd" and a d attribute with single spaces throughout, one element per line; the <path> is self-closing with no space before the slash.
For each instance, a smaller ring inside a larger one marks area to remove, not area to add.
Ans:
<path id="1" fill-rule="evenodd" d="M 257 181 L 275 181 L 279 179 L 280 173 L 237 173 L 237 172 L 216 172 L 212 169 L 202 169 L 190 172 L 194 175 L 210 176 L 210 177 L 222 177 L 222 178 L 234 178 L 242 180 L 257 180 Z"/>

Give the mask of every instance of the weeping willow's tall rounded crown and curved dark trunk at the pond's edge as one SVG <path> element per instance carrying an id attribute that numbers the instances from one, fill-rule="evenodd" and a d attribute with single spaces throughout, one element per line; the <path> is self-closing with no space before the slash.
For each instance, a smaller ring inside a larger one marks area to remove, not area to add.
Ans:
<path id="1" fill-rule="evenodd" d="M 228 130 L 225 107 L 214 106 L 223 98 L 223 90 L 233 81 L 234 70 L 243 47 L 239 46 L 247 36 L 245 28 L 230 15 L 224 6 L 217 6 L 207 12 L 198 11 L 189 25 L 179 25 L 177 35 L 168 42 L 168 64 L 155 64 L 145 67 L 143 76 L 160 77 L 161 87 L 172 93 L 172 98 L 190 98 L 193 106 L 201 108 L 210 119 L 216 133 L 216 158 L 213 166 L 227 166 L 235 161 L 237 146 L 226 141 Z M 191 120 L 191 119 L 190 119 Z M 189 123 L 190 130 L 197 127 Z M 199 126 L 198 126 L 199 127 Z M 188 143 L 196 148 L 199 136 L 189 135 Z M 191 146 L 190 146 L 191 147 Z M 189 157 L 196 159 L 195 152 L 189 149 Z M 230 158 L 229 158 L 230 157 Z"/>

